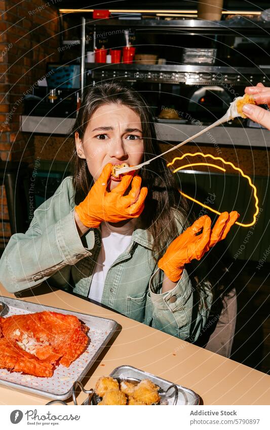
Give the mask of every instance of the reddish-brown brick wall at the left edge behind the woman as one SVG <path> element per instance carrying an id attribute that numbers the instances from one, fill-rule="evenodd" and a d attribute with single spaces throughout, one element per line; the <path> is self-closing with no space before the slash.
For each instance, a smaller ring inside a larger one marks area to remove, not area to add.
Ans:
<path id="1" fill-rule="evenodd" d="M 19 132 L 23 97 L 31 94 L 46 73 L 46 63 L 58 61 L 59 23 L 50 2 L 0 1 L 0 157 L 2 161 L 34 158 L 33 140 Z M 2 187 L 3 188 L 3 187 Z M 10 236 L 5 190 L 0 192 L 3 236 Z"/>

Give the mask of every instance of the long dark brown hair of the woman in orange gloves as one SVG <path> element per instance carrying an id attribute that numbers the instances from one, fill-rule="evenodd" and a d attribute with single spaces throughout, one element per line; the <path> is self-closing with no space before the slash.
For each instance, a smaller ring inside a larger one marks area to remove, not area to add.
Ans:
<path id="1" fill-rule="evenodd" d="M 95 110 L 111 103 L 125 105 L 139 115 L 144 142 L 143 161 L 160 154 L 149 107 L 139 93 L 116 82 L 96 85 L 85 92 L 72 134 L 78 132 L 80 139 L 83 139 Z M 87 196 L 93 184 L 93 178 L 85 160 L 79 158 L 75 150 L 72 165 L 74 202 L 78 205 Z M 158 260 L 168 245 L 178 236 L 177 222 L 180 222 L 183 227 L 186 226 L 188 205 L 178 192 L 174 176 L 166 167 L 162 157 L 144 167 L 139 174 L 142 178 L 142 186 L 147 186 L 148 193 L 141 219 L 147 229 L 149 240 L 153 242 L 153 257 Z"/>

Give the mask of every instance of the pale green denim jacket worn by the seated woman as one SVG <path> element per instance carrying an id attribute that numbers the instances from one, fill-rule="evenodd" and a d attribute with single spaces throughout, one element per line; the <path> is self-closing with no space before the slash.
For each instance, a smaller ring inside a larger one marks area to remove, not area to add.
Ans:
<path id="1" fill-rule="evenodd" d="M 0 260 L 0 282 L 9 292 L 33 288 L 48 280 L 57 288 L 71 285 L 88 297 L 101 246 L 98 228 L 80 238 L 74 220 L 72 177 L 34 211 L 23 233 L 13 234 Z M 179 234 L 182 227 L 179 226 Z M 131 243 L 108 270 L 101 303 L 136 321 L 173 336 L 196 341 L 212 303 L 210 288 L 195 302 L 186 270 L 177 285 L 160 293 L 163 271 L 151 254 L 147 230 L 138 220 Z"/>

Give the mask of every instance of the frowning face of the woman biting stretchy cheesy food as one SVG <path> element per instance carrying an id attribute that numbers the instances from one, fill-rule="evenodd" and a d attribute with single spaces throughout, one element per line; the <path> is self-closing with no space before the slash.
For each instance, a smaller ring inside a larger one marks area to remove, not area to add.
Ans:
<path id="1" fill-rule="evenodd" d="M 94 181 L 108 163 L 134 166 L 143 159 L 140 117 L 123 104 L 100 106 L 89 121 L 83 139 L 75 133 L 75 142 L 77 153 L 86 160 Z M 115 188 L 119 181 L 111 177 L 108 189 Z"/>

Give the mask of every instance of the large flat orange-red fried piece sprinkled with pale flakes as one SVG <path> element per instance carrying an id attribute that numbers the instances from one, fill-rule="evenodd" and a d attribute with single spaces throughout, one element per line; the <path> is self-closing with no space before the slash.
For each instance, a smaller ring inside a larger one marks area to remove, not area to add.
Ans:
<path id="1" fill-rule="evenodd" d="M 56 363 L 69 367 L 85 351 L 89 341 L 86 334 L 89 328 L 74 315 L 43 311 L 1 318 L 0 324 L 7 342 L 18 347 L 18 353 L 25 353 L 25 357 L 33 360 L 36 366 L 40 364 L 40 368 Z M 13 350 L 10 354 L 12 356 Z M 26 365 L 26 358 L 20 371 L 45 376 L 42 370 L 40 374 L 33 373 L 31 366 Z"/>

